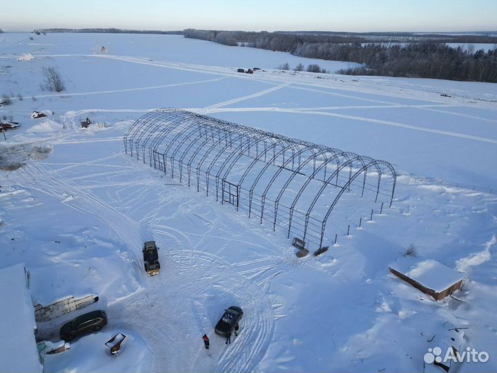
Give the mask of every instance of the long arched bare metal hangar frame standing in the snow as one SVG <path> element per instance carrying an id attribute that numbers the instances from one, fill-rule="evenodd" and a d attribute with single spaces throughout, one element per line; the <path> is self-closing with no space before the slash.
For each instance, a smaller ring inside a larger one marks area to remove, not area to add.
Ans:
<path id="1" fill-rule="evenodd" d="M 396 187 L 389 162 L 175 108 L 137 119 L 124 135 L 124 150 L 180 183 L 187 176 L 197 192 L 214 195 L 215 188 L 222 204 L 318 247 L 344 193 L 364 197 L 366 191 L 391 206 Z"/>

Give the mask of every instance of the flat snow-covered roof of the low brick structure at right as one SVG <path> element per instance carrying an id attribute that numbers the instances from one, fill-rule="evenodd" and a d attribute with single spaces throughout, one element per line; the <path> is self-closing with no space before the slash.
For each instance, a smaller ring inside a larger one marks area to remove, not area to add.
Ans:
<path id="1" fill-rule="evenodd" d="M 390 268 L 405 274 L 405 276 L 416 280 L 424 287 L 437 293 L 465 278 L 465 274 L 442 265 L 442 263 L 433 259 L 413 262 L 413 260 L 405 258 L 405 260 L 394 262 L 390 265 Z"/>

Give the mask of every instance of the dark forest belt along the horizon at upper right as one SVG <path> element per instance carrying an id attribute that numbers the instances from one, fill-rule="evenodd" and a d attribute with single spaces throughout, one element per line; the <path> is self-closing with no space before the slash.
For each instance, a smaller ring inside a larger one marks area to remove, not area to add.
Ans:
<path id="1" fill-rule="evenodd" d="M 351 61 L 348 75 L 422 77 L 497 83 L 497 49 L 465 50 L 445 43 L 485 43 L 491 35 L 351 34 L 325 32 L 244 32 L 184 30 L 184 37 L 227 46 L 250 46 L 300 57 Z"/>

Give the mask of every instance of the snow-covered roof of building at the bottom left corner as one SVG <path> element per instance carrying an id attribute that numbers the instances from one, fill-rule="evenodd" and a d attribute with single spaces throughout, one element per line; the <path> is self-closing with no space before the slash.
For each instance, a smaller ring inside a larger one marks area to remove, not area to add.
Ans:
<path id="1" fill-rule="evenodd" d="M 0 269 L 0 372 L 42 372 L 24 265 Z"/>

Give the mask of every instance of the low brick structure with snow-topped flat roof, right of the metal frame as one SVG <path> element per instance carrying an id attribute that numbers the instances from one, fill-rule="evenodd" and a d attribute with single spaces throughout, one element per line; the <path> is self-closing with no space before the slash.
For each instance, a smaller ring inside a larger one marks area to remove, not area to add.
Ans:
<path id="1" fill-rule="evenodd" d="M 454 293 L 465 279 L 465 274 L 433 259 L 403 258 L 391 264 L 389 269 L 392 274 L 432 296 L 435 300 L 443 299 Z"/>

